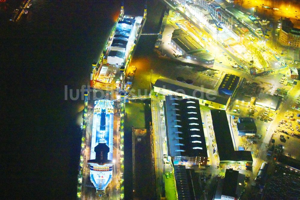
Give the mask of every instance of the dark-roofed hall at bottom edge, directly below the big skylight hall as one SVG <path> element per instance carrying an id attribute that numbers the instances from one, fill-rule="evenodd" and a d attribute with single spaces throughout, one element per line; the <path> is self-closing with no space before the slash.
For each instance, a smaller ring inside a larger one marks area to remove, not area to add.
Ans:
<path id="1" fill-rule="evenodd" d="M 201 187 L 199 174 L 193 169 L 186 169 L 182 165 L 174 166 L 178 200 L 200 199 Z"/>

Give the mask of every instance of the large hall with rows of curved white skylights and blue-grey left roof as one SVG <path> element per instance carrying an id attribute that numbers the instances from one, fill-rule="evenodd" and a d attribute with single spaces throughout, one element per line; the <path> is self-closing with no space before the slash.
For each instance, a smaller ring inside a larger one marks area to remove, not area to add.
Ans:
<path id="1" fill-rule="evenodd" d="M 206 165 L 205 144 L 199 101 L 166 96 L 168 155 L 174 165 Z"/>

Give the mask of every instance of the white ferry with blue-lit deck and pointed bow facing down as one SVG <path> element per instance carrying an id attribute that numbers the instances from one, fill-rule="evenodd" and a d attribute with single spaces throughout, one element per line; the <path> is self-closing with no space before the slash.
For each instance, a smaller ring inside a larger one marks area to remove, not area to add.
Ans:
<path id="1" fill-rule="evenodd" d="M 91 182 L 102 195 L 113 176 L 113 101 L 95 101 L 88 164 Z"/>

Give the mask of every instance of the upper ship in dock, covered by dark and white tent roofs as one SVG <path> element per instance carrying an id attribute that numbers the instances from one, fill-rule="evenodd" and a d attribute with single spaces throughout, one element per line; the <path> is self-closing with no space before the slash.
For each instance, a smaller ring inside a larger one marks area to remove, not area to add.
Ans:
<path id="1" fill-rule="evenodd" d="M 101 59 L 93 64 L 90 85 L 94 89 L 112 90 L 122 83 L 135 46 L 146 22 L 144 16 L 124 15 L 123 6 Z"/>

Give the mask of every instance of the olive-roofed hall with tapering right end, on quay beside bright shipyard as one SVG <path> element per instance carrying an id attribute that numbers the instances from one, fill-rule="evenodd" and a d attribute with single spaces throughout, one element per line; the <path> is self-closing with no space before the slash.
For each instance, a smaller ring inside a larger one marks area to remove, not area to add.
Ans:
<path id="1" fill-rule="evenodd" d="M 214 63 L 214 57 L 182 29 L 174 30 L 171 38 L 171 46 L 179 51 L 183 58 L 204 62 L 207 65 Z"/>

